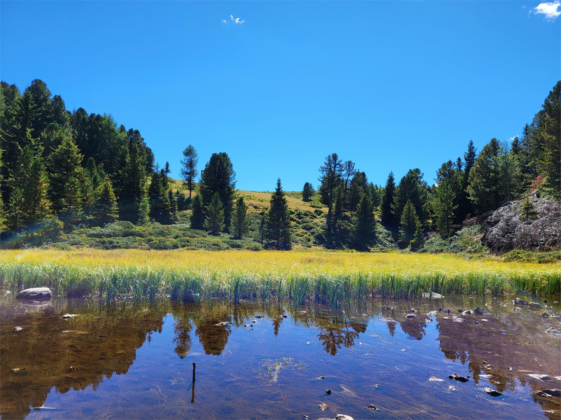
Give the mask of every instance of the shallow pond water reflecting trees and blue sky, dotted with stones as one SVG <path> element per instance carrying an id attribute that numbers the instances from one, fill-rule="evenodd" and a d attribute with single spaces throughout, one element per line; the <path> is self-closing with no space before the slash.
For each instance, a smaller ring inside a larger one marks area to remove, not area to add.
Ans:
<path id="1" fill-rule="evenodd" d="M 528 307 L 513 312 L 510 299 L 371 300 L 332 309 L 290 302 L 234 307 L 54 299 L 34 307 L 2 297 L 0 414 L 561 418 L 559 398 L 533 393 L 561 388 L 554 378 L 561 375 L 561 340 L 544 334 L 559 321 Z M 458 308 L 476 305 L 491 315 L 452 319 Z M 411 308 L 417 310 L 413 320 L 405 318 Z M 78 316 L 63 319 L 66 313 Z M 16 325 L 23 330 L 13 332 Z M 469 380 L 449 379 L 454 373 Z M 503 395 L 490 396 L 483 387 Z M 329 408 L 322 412 L 321 403 Z"/>

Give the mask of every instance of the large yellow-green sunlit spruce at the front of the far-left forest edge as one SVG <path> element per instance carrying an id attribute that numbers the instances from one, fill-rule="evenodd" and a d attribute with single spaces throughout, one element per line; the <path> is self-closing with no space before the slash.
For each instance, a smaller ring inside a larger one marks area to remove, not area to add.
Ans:
<path id="1" fill-rule="evenodd" d="M 21 151 L 8 184 L 12 192 L 7 225 L 12 231 L 32 226 L 50 214 L 45 166 L 30 146 Z"/>

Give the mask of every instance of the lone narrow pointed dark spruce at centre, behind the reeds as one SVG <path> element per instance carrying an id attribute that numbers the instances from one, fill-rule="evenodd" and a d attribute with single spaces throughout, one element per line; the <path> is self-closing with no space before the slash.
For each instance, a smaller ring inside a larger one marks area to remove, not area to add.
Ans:
<path id="1" fill-rule="evenodd" d="M 267 238 L 275 242 L 277 249 L 290 249 L 292 247 L 290 214 L 280 178 L 277 179 L 277 188 L 271 195 L 267 221 Z"/>

